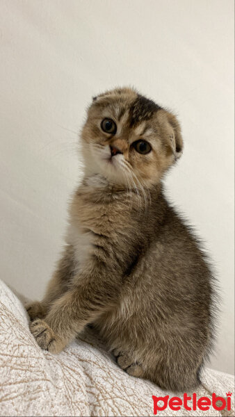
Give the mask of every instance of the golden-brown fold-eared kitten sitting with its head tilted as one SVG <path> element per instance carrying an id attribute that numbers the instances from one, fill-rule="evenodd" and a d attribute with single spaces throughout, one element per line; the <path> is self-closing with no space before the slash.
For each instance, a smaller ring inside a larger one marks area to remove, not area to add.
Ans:
<path id="1" fill-rule="evenodd" d="M 31 332 L 58 353 L 92 323 L 129 375 L 191 389 L 211 347 L 213 277 L 162 191 L 179 122 L 120 88 L 93 99 L 81 142 L 65 250 L 44 300 L 27 307 Z"/>

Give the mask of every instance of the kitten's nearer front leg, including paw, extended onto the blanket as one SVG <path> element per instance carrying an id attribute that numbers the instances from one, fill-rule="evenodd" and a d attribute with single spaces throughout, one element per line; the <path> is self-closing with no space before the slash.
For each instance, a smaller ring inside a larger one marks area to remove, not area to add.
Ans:
<path id="1" fill-rule="evenodd" d="M 115 304 L 119 288 L 117 270 L 102 264 L 74 277 L 72 289 L 51 304 L 44 320 L 31 323 L 38 345 L 52 353 L 63 350 L 83 327 Z"/>

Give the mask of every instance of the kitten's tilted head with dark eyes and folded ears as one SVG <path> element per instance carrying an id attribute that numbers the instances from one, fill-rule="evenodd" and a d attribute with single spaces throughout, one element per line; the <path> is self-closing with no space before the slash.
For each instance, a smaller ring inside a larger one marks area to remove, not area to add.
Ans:
<path id="1" fill-rule="evenodd" d="M 82 131 L 88 174 L 125 186 L 152 186 L 181 155 L 174 115 L 129 88 L 95 97 Z"/>

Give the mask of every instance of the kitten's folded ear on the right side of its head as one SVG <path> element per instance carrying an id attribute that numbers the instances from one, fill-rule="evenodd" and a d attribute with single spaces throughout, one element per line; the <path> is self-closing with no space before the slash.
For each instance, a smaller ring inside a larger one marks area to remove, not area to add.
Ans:
<path id="1" fill-rule="evenodd" d="M 167 119 L 168 119 L 168 139 L 170 141 L 170 147 L 172 149 L 172 152 L 175 156 L 175 160 L 177 160 L 182 152 L 183 152 L 183 139 L 181 136 L 181 127 L 177 120 L 177 117 L 175 115 L 172 115 L 172 113 L 167 112 Z"/>

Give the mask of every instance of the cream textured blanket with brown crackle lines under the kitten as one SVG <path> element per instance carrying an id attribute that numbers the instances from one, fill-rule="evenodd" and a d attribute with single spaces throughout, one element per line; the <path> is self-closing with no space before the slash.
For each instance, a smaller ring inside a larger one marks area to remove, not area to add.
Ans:
<path id="1" fill-rule="evenodd" d="M 206 369 L 196 394 L 211 399 L 216 393 L 227 401 L 229 391 L 233 410 L 234 378 Z M 58 355 L 40 350 L 22 302 L 0 281 L 1 416 L 153 416 L 152 395 L 170 399 L 175 393 L 124 373 L 91 330 Z M 187 411 L 182 406 L 157 410 L 157 415 L 234 416 L 232 410 Z"/>

